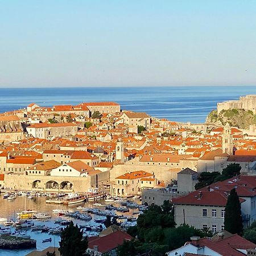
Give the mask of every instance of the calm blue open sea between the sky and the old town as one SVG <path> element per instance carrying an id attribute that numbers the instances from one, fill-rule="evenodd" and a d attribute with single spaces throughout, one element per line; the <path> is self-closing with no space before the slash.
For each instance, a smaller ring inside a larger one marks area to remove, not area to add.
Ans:
<path id="1" fill-rule="evenodd" d="M 0 112 L 40 106 L 115 101 L 122 109 L 179 122 L 204 122 L 217 102 L 256 94 L 256 86 L 172 86 L 0 89 Z"/>

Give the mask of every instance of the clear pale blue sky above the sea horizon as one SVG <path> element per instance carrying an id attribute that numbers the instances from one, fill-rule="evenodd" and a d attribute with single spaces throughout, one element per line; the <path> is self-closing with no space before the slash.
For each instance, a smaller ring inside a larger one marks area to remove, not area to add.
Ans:
<path id="1" fill-rule="evenodd" d="M 256 85 L 256 1 L 0 2 L 0 87 L 168 85 Z"/>

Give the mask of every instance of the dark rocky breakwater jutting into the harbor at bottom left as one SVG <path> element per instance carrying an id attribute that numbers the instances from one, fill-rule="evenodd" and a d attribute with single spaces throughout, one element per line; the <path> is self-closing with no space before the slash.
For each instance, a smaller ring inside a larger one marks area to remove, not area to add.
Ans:
<path id="1" fill-rule="evenodd" d="M 28 249 L 35 248 L 36 240 L 22 239 L 14 236 L 1 236 L 0 249 Z"/>

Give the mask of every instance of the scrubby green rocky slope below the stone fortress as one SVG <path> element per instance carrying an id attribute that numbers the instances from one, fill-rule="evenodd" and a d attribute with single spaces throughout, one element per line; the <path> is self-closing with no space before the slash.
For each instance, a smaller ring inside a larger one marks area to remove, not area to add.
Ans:
<path id="1" fill-rule="evenodd" d="M 220 114 L 217 114 L 217 110 L 212 110 L 205 122 L 220 126 L 229 123 L 230 126 L 249 129 L 250 125 L 256 125 L 256 115 L 251 110 L 244 109 L 222 110 Z"/>

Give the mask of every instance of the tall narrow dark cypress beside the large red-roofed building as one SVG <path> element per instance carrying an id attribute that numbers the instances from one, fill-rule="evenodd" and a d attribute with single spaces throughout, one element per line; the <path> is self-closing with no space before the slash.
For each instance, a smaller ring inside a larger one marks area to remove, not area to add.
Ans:
<path id="1" fill-rule="evenodd" d="M 232 234 L 239 234 L 240 236 L 242 234 L 243 224 L 241 205 L 235 188 L 230 191 L 228 201 L 226 203 L 224 228 Z"/>

